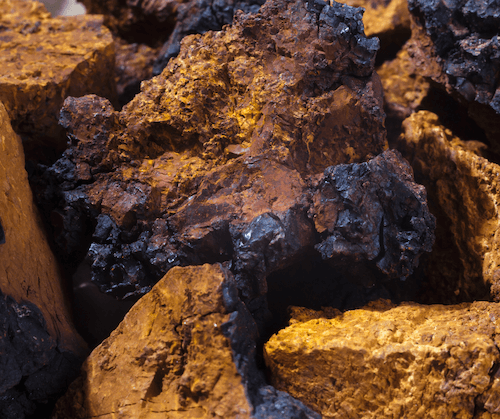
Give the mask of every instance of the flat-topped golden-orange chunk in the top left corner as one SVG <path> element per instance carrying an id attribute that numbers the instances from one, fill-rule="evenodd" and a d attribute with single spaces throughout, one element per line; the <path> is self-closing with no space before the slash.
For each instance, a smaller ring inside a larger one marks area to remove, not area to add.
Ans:
<path id="1" fill-rule="evenodd" d="M 66 96 L 115 99 L 111 33 L 102 17 L 51 18 L 29 0 L 2 0 L 0 27 L 0 101 L 14 129 L 62 149 L 57 120 Z"/>

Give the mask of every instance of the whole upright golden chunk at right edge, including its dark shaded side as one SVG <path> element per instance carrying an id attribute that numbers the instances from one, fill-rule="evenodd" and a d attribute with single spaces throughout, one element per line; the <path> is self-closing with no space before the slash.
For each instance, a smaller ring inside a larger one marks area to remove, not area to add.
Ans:
<path id="1" fill-rule="evenodd" d="M 498 301 L 500 167 L 481 156 L 483 144 L 461 141 L 426 111 L 403 122 L 399 148 L 426 186 L 438 217 L 427 298 Z"/>

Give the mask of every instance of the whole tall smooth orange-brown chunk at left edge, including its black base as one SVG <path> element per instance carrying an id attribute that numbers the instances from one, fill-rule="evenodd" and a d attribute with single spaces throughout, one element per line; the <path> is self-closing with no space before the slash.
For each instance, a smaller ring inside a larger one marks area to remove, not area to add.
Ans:
<path id="1" fill-rule="evenodd" d="M 0 416 L 18 419 L 40 414 L 61 395 L 86 345 L 71 323 L 24 170 L 21 139 L 1 102 L 0 209 Z"/>

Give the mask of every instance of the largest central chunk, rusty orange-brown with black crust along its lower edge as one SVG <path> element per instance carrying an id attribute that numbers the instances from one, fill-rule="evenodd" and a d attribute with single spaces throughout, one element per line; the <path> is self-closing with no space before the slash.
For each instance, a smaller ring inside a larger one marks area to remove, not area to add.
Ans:
<path id="1" fill-rule="evenodd" d="M 386 148 L 378 41 L 362 30 L 359 9 L 269 2 L 187 38 L 119 113 L 68 98 L 72 146 L 47 172 L 62 191 L 41 196 L 61 253 L 89 246 L 94 280 L 120 297 L 173 266 L 231 259 L 259 276 L 238 276 L 241 290 L 265 293 L 264 272 L 315 244 L 311 175 Z"/>

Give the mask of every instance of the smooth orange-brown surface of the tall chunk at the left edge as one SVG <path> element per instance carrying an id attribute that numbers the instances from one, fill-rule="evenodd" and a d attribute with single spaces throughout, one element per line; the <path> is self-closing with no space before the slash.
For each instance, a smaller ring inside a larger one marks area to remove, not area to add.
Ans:
<path id="1" fill-rule="evenodd" d="M 83 356 L 86 345 L 75 331 L 52 253 L 24 170 L 21 139 L 0 102 L 0 291 L 42 312 L 49 334 L 66 351 Z"/>

